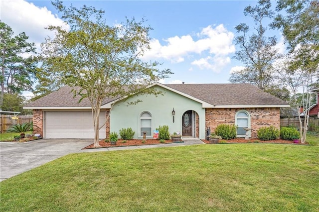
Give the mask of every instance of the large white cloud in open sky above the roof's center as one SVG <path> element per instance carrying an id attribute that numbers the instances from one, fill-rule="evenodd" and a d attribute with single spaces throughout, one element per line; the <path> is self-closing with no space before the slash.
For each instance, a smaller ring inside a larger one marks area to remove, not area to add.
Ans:
<path id="1" fill-rule="evenodd" d="M 201 54 L 207 51 L 214 54 L 217 58 L 235 52 L 235 46 L 232 44 L 234 34 L 228 31 L 223 24 L 213 28 L 211 25 L 203 28 L 197 33 L 198 40 L 194 40 L 191 35 L 181 37 L 174 36 L 165 40 L 166 45 L 161 45 L 158 39 L 152 39 L 151 50 L 145 52 L 144 59 L 166 59 L 172 63 L 184 61 L 184 57 L 195 54 Z M 227 57 L 224 58 L 228 60 Z"/>

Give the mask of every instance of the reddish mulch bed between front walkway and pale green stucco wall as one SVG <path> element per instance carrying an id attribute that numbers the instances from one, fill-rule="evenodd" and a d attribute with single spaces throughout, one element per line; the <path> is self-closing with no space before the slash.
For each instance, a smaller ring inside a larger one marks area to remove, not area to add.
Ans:
<path id="1" fill-rule="evenodd" d="M 126 142 L 125 142 L 126 141 Z M 172 143 L 171 140 L 165 140 L 164 143 Z M 138 146 L 138 145 L 150 145 L 150 144 L 164 144 L 160 143 L 160 140 L 158 139 L 146 139 L 145 142 L 141 139 L 133 139 L 133 140 L 123 140 L 119 139 L 115 145 L 112 145 L 111 142 L 105 142 L 104 140 L 100 140 L 99 144 L 101 147 L 99 148 L 105 148 L 105 147 L 118 147 L 118 146 Z M 87 147 L 84 147 L 83 149 L 92 149 L 94 144 L 91 144 Z"/>

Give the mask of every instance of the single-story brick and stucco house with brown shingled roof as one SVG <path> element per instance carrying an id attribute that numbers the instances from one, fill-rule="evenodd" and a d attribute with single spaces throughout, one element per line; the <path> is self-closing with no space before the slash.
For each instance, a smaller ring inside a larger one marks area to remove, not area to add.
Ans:
<path id="1" fill-rule="evenodd" d="M 264 126 L 280 127 L 280 107 L 289 105 L 250 84 L 152 84 L 163 92 L 133 96 L 129 101 L 142 102 L 127 106 L 122 100 L 104 100 L 99 131 L 101 139 L 122 128 L 131 127 L 135 138 L 152 138 L 153 132 L 168 125 L 170 133 L 205 139 L 206 129 L 213 132 L 219 124 L 238 126 L 237 136 L 244 137 L 244 127 L 252 128 L 251 137 Z M 44 96 L 24 106 L 33 110 L 33 130 L 45 138 L 94 138 L 90 102 L 73 98 L 70 87 Z M 111 106 L 112 110 L 110 111 Z"/>

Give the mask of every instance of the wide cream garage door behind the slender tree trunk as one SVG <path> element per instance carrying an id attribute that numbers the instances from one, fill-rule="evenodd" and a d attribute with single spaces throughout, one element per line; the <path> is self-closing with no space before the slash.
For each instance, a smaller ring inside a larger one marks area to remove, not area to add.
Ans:
<path id="1" fill-rule="evenodd" d="M 91 111 L 46 111 L 46 138 L 92 138 L 94 126 Z M 105 112 L 100 112 L 100 126 L 105 122 Z M 105 138 L 105 125 L 99 131 L 99 137 Z"/>

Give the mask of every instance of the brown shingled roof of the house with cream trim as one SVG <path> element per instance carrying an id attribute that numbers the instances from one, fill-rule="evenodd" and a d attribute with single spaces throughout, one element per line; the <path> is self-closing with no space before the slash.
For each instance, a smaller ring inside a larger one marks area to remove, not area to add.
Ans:
<path id="1" fill-rule="evenodd" d="M 160 84 L 160 86 L 182 96 L 203 104 L 203 107 L 289 107 L 289 104 L 250 84 Z M 63 87 L 58 91 L 42 97 L 24 106 L 35 108 L 91 108 L 88 99 L 80 103 L 79 97 L 73 98 L 72 88 Z M 116 100 L 104 100 L 103 104 L 114 103 Z"/>

